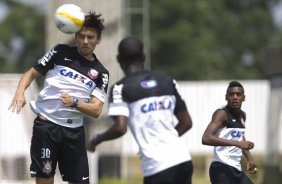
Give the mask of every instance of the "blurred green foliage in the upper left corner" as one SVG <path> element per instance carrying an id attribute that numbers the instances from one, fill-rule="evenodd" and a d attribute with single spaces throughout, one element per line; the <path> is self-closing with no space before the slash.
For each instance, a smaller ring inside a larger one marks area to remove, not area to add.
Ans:
<path id="1" fill-rule="evenodd" d="M 44 14 L 14 0 L 4 0 L 9 8 L 0 22 L 0 72 L 22 73 L 44 54 Z"/>

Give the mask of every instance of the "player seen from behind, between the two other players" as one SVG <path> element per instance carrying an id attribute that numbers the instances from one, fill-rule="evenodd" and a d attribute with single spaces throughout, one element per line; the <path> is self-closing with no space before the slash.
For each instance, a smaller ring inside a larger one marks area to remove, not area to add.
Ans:
<path id="1" fill-rule="evenodd" d="M 114 124 L 96 134 L 88 150 L 122 136 L 129 125 L 139 146 L 144 184 L 190 184 L 193 165 L 180 136 L 192 127 L 192 120 L 176 81 L 144 70 L 143 43 L 136 38 L 120 42 L 117 60 L 125 77 L 110 90 L 108 114 Z"/>

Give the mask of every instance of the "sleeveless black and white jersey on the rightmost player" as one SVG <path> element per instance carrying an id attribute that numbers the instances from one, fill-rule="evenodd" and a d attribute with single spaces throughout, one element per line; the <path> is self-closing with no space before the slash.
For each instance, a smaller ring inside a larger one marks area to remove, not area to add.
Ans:
<path id="1" fill-rule="evenodd" d="M 216 136 L 222 139 L 242 141 L 245 134 L 244 120 L 240 114 L 235 115 L 227 107 L 223 108 L 228 116 L 227 126 L 218 130 Z M 239 171 L 241 168 L 242 149 L 236 146 L 215 146 L 213 161 L 235 167 Z"/>

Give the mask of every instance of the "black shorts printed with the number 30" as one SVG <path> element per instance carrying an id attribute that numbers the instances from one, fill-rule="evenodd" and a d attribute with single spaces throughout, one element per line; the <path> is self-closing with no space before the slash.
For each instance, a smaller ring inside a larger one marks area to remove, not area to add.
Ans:
<path id="1" fill-rule="evenodd" d="M 84 127 L 68 128 L 37 117 L 31 140 L 32 177 L 49 178 L 58 163 L 62 179 L 89 183 Z"/>

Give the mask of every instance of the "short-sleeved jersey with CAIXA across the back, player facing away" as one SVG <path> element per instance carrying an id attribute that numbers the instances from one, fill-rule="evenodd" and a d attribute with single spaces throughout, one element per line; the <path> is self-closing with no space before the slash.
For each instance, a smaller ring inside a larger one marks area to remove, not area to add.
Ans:
<path id="1" fill-rule="evenodd" d="M 108 113 L 129 117 L 144 176 L 191 160 L 187 145 L 175 129 L 174 114 L 186 110 L 175 85 L 170 77 L 142 71 L 111 88 Z"/>

